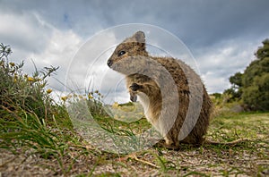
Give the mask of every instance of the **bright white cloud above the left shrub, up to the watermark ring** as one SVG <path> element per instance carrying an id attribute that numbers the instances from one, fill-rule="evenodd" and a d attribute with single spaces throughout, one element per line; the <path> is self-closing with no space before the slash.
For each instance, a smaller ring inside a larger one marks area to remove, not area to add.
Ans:
<path id="1" fill-rule="evenodd" d="M 82 45 L 82 38 L 73 30 L 58 30 L 43 20 L 37 13 L 3 14 L 0 38 L 5 45 L 10 45 L 14 62 L 25 62 L 24 71 L 34 72 L 45 66 L 59 66 L 56 79 L 65 83 L 65 72 L 73 56 Z M 31 63 L 31 60 L 33 63 Z M 51 88 L 63 90 L 62 84 L 51 78 Z"/>

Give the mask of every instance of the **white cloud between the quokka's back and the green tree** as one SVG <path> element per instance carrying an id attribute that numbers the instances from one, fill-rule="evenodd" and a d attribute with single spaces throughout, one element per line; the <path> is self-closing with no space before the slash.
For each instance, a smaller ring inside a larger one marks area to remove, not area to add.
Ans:
<path id="1" fill-rule="evenodd" d="M 230 76 L 236 72 L 243 72 L 255 59 L 254 52 L 258 43 L 258 40 L 246 42 L 238 39 L 203 48 L 203 51 L 197 54 L 196 61 L 208 91 L 222 92 L 230 88 Z"/>

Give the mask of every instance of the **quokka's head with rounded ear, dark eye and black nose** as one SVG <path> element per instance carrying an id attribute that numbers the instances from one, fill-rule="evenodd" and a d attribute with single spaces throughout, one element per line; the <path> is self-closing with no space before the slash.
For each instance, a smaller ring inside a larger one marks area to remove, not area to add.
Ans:
<path id="1" fill-rule="evenodd" d="M 125 58 L 135 58 L 135 56 L 147 56 L 145 48 L 145 36 L 143 31 L 137 31 L 130 38 L 126 38 L 122 43 L 120 43 L 114 53 L 108 59 L 108 66 L 112 69 L 113 64 L 120 64 Z"/>

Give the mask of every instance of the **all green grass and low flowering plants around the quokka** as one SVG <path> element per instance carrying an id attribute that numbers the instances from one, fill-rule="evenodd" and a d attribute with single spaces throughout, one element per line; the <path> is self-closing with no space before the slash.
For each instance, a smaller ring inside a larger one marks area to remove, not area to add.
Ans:
<path id="1" fill-rule="evenodd" d="M 269 173 L 269 113 L 236 114 L 225 108 L 215 114 L 206 139 L 219 142 L 245 139 L 235 145 L 182 145 L 179 151 L 151 147 L 129 154 L 111 153 L 89 143 L 69 118 L 68 106 L 50 98 L 53 90 L 48 89 L 46 80 L 56 68 L 25 75 L 23 63 L 8 61 L 9 46 L 1 44 L 0 53 L 0 176 L 266 176 Z M 114 143 L 133 146 L 132 136 L 151 127 L 145 119 L 121 122 L 111 118 L 100 97 L 94 91 L 85 96 L 62 97 L 62 101 L 86 103 L 94 122 L 102 130 L 117 135 Z M 130 104 L 114 107 L 116 113 L 134 110 Z M 83 113 L 75 115 L 80 117 Z M 122 138 L 130 142 L 120 141 Z"/>

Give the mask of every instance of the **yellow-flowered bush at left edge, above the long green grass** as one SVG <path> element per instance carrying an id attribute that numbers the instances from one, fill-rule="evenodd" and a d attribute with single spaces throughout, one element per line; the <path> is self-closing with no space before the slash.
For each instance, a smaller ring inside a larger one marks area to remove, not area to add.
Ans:
<path id="1" fill-rule="evenodd" d="M 23 62 L 9 62 L 8 56 L 11 54 L 9 46 L 0 45 L 0 113 L 24 110 L 36 114 L 40 119 L 48 119 L 54 110 L 53 100 L 45 88 L 48 76 L 58 68 L 51 66 L 41 71 L 36 69 L 29 76 L 22 72 Z"/>

